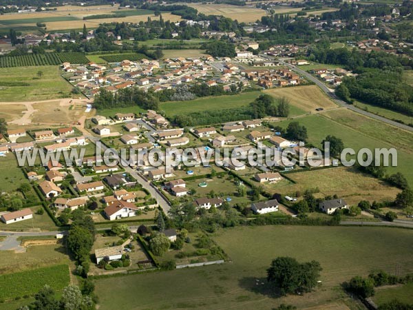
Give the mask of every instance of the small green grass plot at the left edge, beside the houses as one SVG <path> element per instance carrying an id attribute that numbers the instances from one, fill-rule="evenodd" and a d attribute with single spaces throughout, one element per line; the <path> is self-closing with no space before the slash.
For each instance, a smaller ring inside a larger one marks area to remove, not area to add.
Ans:
<path id="1" fill-rule="evenodd" d="M 16 157 L 9 153 L 6 157 L 0 157 L 0 192 L 12 192 L 22 183 L 28 183 L 23 171 L 17 166 Z"/>

